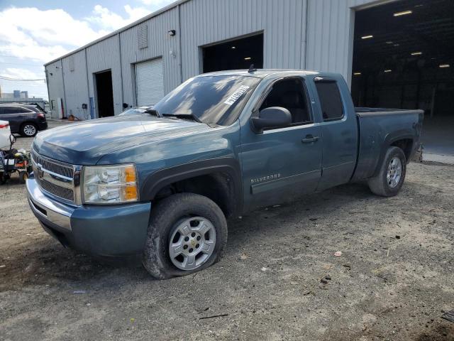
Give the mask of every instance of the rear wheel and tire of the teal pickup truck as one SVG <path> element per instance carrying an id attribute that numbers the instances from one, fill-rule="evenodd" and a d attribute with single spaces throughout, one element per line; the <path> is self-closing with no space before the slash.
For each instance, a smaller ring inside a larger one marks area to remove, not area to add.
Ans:
<path id="1" fill-rule="evenodd" d="M 384 156 L 380 172 L 370 178 L 368 185 L 372 193 L 382 197 L 394 197 L 404 184 L 406 157 L 399 147 L 389 147 Z"/>

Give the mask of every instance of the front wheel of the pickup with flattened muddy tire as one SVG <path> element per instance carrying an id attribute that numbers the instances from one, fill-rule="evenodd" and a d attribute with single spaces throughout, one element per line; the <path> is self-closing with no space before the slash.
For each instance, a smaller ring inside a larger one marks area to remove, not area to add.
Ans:
<path id="1" fill-rule="evenodd" d="M 157 279 L 194 274 L 219 261 L 226 244 L 226 217 L 218 205 L 179 193 L 153 207 L 142 263 Z"/>

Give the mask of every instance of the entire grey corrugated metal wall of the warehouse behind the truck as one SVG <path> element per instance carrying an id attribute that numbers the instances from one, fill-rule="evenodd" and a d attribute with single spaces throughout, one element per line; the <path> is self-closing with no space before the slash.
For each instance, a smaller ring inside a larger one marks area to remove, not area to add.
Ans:
<path id="1" fill-rule="evenodd" d="M 64 97 L 65 88 L 67 112 L 75 115 L 82 103 L 89 103 L 87 96 L 95 97 L 94 73 L 110 69 L 114 109 L 119 114 L 123 102 L 136 104 L 135 63 L 162 58 L 167 93 L 182 80 L 200 73 L 201 46 L 258 32 L 264 34 L 264 67 L 341 72 L 350 84 L 353 8 L 384 1 L 387 0 L 187 1 L 75 53 L 73 72 L 65 57 L 65 87 L 57 69 L 49 77 L 50 98 Z M 144 24 L 148 26 L 148 47 L 138 48 L 138 27 Z M 170 30 L 177 31 L 177 35 L 169 36 Z M 81 57 L 84 51 L 85 68 Z M 46 70 L 55 70 L 60 63 L 59 60 L 47 65 Z"/>

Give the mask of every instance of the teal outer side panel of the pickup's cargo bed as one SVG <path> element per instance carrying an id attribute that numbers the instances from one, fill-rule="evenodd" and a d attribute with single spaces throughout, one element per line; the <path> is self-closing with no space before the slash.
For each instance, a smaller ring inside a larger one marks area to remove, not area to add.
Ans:
<path id="1" fill-rule="evenodd" d="M 370 178 L 381 164 L 388 146 L 404 143 L 409 159 L 419 146 L 423 111 L 407 109 L 355 108 L 358 121 L 358 161 L 353 181 Z M 404 142 L 399 142 L 404 141 Z"/>

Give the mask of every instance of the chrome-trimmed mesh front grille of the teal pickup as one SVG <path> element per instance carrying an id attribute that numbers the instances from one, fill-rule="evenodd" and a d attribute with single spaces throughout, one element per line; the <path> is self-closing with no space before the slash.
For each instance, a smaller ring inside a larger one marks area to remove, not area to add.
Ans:
<path id="1" fill-rule="evenodd" d="M 35 150 L 31 153 L 31 160 L 35 180 L 42 190 L 63 200 L 79 203 L 79 183 L 74 181 L 77 179 L 79 182 L 79 176 L 75 176 L 80 171 L 79 166 L 52 160 L 41 156 Z"/>

